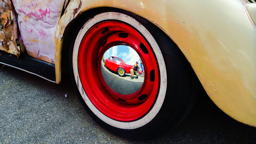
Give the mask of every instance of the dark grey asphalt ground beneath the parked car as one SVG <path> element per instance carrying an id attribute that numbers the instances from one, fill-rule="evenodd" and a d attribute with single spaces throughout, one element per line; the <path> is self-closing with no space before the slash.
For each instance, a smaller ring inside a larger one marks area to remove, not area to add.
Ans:
<path id="1" fill-rule="evenodd" d="M 256 128 L 227 116 L 203 92 L 173 132 L 151 141 L 123 139 L 93 121 L 68 79 L 56 85 L 0 65 L 0 143 L 255 142 Z"/>

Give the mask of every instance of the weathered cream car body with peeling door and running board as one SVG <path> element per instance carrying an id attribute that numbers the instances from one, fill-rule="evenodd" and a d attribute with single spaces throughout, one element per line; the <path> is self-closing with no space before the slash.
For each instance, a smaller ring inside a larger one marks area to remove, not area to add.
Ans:
<path id="1" fill-rule="evenodd" d="M 0 8 L 0 63 L 57 84 L 68 61 L 64 55 L 69 49 L 67 43 L 81 18 L 104 9 L 140 16 L 178 46 L 210 99 L 221 110 L 256 127 L 256 2 L 253 0 L 1 0 Z M 131 124 L 124 128 L 112 121 L 102 121 L 118 129 L 140 127 Z"/>

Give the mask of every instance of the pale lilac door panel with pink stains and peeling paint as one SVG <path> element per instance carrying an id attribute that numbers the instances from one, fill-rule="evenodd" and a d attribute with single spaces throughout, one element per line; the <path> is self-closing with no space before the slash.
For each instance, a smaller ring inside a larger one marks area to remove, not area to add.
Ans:
<path id="1" fill-rule="evenodd" d="M 55 63 L 54 34 L 63 0 L 12 0 L 28 55 Z"/>

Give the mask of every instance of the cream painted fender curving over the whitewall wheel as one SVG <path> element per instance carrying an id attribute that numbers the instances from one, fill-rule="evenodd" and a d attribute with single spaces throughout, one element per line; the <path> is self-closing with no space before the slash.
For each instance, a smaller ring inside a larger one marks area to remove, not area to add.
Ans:
<path id="1" fill-rule="evenodd" d="M 207 94 L 225 113 L 256 127 L 256 30 L 244 0 L 72 0 L 55 36 L 56 82 L 61 79 L 65 28 L 80 13 L 114 7 L 162 29 L 190 62 Z"/>

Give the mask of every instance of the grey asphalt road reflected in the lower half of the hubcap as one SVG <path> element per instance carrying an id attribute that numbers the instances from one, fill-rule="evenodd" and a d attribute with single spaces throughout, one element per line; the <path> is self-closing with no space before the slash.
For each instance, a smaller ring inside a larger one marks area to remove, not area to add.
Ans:
<path id="1" fill-rule="evenodd" d="M 106 84 L 120 94 L 132 94 L 138 91 L 144 82 L 144 77 L 141 76 L 138 79 L 132 79 L 131 74 L 125 74 L 124 77 L 120 77 L 118 74 L 106 68 L 103 62 L 101 62 L 101 73 Z"/>

